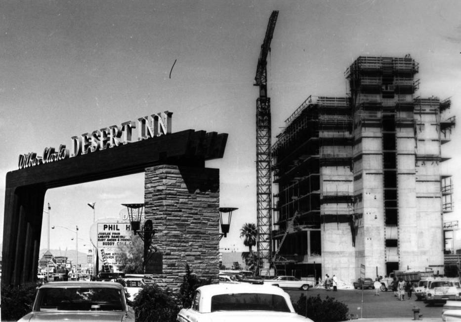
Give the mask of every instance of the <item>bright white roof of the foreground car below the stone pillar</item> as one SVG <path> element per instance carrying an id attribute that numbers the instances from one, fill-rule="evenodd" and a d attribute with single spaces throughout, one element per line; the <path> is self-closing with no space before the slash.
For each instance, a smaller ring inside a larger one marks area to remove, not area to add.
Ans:
<path id="1" fill-rule="evenodd" d="M 283 295 L 286 292 L 277 286 L 264 285 L 264 284 L 211 284 L 200 286 L 197 288 L 202 293 L 207 293 L 210 296 L 217 294 L 230 294 L 230 293 L 271 293 Z"/>

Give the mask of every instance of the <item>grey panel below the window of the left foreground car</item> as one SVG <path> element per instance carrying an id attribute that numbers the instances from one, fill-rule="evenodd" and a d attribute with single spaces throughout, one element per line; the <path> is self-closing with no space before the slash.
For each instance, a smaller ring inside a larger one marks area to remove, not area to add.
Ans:
<path id="1" fill-rule="evenodd" d="M 125 312 L 112 311 L 44 311 L 32 312 L 24 316 L 20 321 L 123 321 Z"/>

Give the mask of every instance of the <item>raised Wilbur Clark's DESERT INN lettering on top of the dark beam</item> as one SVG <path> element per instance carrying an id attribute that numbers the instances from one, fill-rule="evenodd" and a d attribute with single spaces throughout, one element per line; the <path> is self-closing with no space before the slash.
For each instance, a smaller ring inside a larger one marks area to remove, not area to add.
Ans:
<path id="1" fill-rule="evenodd" d="M 151 116 L 138 118 L 137 141 L 170 134 L 172 114 L 172 112 L 165 111 L 157 115 L 152 114 Z M 100 130 L 94 130 L 91 134 L 84 133 L 81 136 L 74 136 L 71 138 L 70 151 L 65 144 L 61 144 L 57 150 L 51 146 L 45 147 L 42 156 L 38 156 L 35 152 L 21 154 L 19 155 L 18 167 L 19 169 L 24 169 L 131 143 L 133 129 L 136 129 L 136 122 L 127 121 L 122 123 L 121 126 L 112 125 Z"/>

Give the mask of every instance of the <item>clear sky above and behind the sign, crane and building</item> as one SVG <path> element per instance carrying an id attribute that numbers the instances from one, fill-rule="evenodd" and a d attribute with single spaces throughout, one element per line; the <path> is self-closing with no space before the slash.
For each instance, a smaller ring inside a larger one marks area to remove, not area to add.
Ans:
<path id="1" fill-rule="evenodd" d="M 246 250 L 240 228 L 256 223 L 253 79 L 272 10 L 272 143 L 309 95 L 344 97 L 344 71 L 359 56 L 411 54 L 419 63 L 415 96 L 451 97 L 447 118 L 460 119 L 461 1 L 2 0 L 0 177 L 18 169 L 20 154 L 42 155 L 73 136 L 169 110 L 172 132 L 229 134 L 224 157 L 206 166 L 220 169 L 220 206 L 238 208 L 220 247 Z M 456 218 L 460 143 L 455 129 L 442 147 L 452 157 L 442 167 L 453 175 Z M 51 249 L 75 249 L 76 226 L 79 250 L 88 244 L 93 202 L 96 219 L 144 202 L 143 174 L 48 190 Z"/>

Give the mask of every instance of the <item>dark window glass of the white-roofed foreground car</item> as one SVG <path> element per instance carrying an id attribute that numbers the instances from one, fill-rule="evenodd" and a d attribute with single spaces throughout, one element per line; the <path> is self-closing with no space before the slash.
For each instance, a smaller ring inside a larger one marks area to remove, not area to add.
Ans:
<path id="1" fill-rule="evenodd" d="M 215 311 L 277 311 L 290 312 L 281 295 L 264 293 L 219 294 L 211 297 L 211 312 Z"/>

